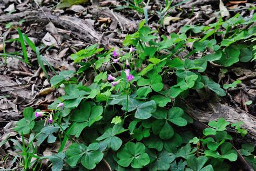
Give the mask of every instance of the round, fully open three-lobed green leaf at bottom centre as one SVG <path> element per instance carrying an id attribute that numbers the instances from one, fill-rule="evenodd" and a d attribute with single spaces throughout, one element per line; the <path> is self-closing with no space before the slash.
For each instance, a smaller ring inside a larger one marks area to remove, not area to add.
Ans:
<path id="1" fill-rule="evenodd" d="M 117 153 L 118 165 L 132 168 L 142 168 L 150 162 L 149 155 L 145 153 L 145 146 L 143 143 L 127 142 L 125 147 L 120 149 Z"/>

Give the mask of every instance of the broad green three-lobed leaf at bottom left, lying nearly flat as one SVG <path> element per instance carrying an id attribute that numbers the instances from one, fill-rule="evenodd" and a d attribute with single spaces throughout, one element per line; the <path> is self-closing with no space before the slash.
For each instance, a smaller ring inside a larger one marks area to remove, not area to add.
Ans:
<path id="1" fill-rule="evenodd" d="M 78 143 L 72 143 L 66 150 L 67 163 L 75 167 L 81 162 L 87 169 L 94 169 L 103 159 L 103 153 L 99 151 L 99 143 L 91 143 L 88 147 Z"/>

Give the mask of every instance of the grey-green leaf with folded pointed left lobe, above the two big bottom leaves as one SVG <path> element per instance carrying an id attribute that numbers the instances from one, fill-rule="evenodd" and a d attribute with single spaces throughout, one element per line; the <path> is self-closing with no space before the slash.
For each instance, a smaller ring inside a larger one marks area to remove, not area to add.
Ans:
<path id="1" fill-rule="evenodd" d="M 113 151 L 117 151 L 122 146 L 123 141 L 115 135 L 125 131 L 127 131 L 127 129 L 124 129 L 121 124 L 117 124 L 114 125 L 113 128 L 107 129 L 105 133 L 96 140 L 104 140 L 103 142 L 106 142 L 107 147 L 111 148 Z"/>

